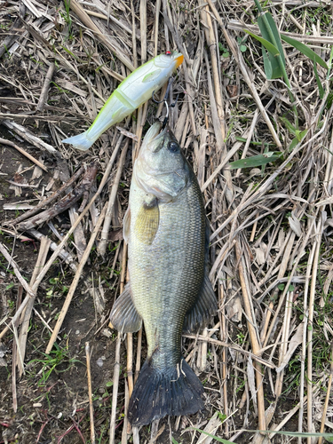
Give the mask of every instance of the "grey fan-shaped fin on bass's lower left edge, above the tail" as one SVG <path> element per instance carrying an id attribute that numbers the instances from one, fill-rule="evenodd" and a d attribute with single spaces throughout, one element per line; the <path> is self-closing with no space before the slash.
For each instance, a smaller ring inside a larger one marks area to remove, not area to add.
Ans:
<path id="1" fill-rule="evenodd" d="M 125 286 L 123 293 L 115 301 L 110 321 L 113 328 L 122 333 L 134 333 L 141 328 L 142 319 L 133 304 L 130 283 Z"/>

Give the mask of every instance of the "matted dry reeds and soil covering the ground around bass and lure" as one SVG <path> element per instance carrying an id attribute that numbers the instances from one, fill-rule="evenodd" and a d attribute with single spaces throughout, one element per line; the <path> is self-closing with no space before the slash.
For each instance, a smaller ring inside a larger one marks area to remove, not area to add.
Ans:
<path id="1" fill-rule="evenodd" d="M 329 63 L 329 1 L 262 6 Z M 0 0 L 1 442 L 214 440 L 196 428 L 234 442 L 310 444 L 322 439 L 253 431 L 332 432 L 330 68 L 318 68 L 321 99 L 312 62 L 284 44 L 299 130 L 308 130 L 290 149 L 286 85 L 266 80 L 261 48 L 243 31 L 258 34 L 257 17 L 252 1 L 238 0 Z M 165 109 L 150 100 L 85 153 L 60 140 L 84 131 L 134 67 L 172 49 L 185 60 L 170 127 L 202 186 L 219 310 L 183 340 L 206 411 L 131 431 L 126 406 L 145 337 L 117 336 L 107 316 L 126 281 L 132 160 Z M 229 168 L 267 152 L 281 155 Z M 35 218 L 19 216 L 36 202 Z"/>

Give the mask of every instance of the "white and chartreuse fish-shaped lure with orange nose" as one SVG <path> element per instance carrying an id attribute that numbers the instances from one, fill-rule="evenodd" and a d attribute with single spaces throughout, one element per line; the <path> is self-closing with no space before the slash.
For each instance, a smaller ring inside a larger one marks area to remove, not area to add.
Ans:
<path id="1" fill-rule="evenodd" d="M 173 71 L 181 65 L 184 56 L 180 52 L 167 51 L 147 61 L 123 80 L 99 111 L 91 127 L 82 134 L 62 140 L 75 148 L 86 151 L 107 131 L 121 122 L 138 107 L 147 102 L 154 91 L 159 90 Z"/>

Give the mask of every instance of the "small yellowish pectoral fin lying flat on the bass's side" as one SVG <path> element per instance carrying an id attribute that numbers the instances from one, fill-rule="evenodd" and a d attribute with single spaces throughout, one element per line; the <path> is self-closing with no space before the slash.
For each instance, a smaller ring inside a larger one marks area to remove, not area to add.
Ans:
<path id="1" fill-rule="evenodd" d="M 139 209 L 134 231 L 139 241 L 150 245 L 154 239 L 160 223 L 160 210 L 157 199 L 144 202 Z"/>

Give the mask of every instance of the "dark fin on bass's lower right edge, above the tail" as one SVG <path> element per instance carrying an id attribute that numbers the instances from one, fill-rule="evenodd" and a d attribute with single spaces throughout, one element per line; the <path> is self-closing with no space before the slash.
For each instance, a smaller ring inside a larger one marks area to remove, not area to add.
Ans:
<path id="1" fill-rule="evenodd" d="M 208 274 L 205 274 L 202 289 L 194 306 L 186 313 L 183 330 L 193 331 L 209 321 L 210 316 L 218 310 L 217 299 L 211 286 Z"/>

